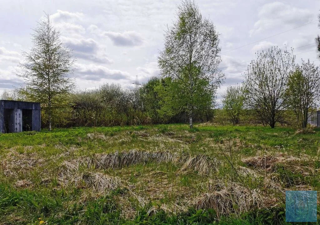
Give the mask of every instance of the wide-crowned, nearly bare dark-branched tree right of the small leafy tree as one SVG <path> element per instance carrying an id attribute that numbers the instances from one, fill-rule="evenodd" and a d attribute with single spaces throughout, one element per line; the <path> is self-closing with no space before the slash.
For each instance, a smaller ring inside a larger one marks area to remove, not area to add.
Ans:
<path id="1" fill-rule="evenodd" d="M 292 52 L 272 47 L 266 52 L 257 52 L 245 73 L 247 106 L 271 128 L 276 122 L 283 122 L 287 108 L 286 85 L 294 60 Z"/>

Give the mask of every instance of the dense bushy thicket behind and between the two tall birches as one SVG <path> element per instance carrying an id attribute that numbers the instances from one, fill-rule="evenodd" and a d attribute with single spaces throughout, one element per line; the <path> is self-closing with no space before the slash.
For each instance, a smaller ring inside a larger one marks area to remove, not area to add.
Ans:
<path id="1" fill-rule="evenodd" d="M 124 89 L 120 84 L 103 84 L 96 89 L 76 90 L 65 96 L 63 107 L 55 108 L 53 127 L 147 125 L 188 123 L 189 114 L 183 108 L 169 107 L 164 96 L 170 79 L 151 77 L 138 92 Z M 19 89 L 5 91 L 2 99 L 30 100 Z M 177 100 L 179 98 L 177 97 Z M 210 105 L 194 111 L 195 122 L 213 118 Z M 46 111 L 42 111 L 42 126 L 48 126 Z"/>

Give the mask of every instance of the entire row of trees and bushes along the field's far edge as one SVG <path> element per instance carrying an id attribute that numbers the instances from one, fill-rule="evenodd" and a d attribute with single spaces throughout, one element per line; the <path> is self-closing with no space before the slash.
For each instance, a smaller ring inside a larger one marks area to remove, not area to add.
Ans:
<path id="1" fill-rule="evenodd" d="M 42 123 L 49 130 L 69 126 L 113 126 L 162 123 L 216 122 L 298 125 L 305 128 L 319 106 L 320 69 L 297 64 L 293 51 L 276 46 L 256 53 L 242 85 L 230 86 L 223 108 L 214 111 L 223 83 L 219 33 L 194 1 L 178 6 L 177 20 L 164 33 L 159 52 L 159 77 L 135 91 L 119 84 L 76 90 L 72 51 L 46 15 L 32 35 L 30 52 L 20 64 L 25 85 L 3 99 L 41 103 Z M 319 41 L 320 39 L 317 38 Z M 215 113 L 215 115 L 214 115 Z"/>

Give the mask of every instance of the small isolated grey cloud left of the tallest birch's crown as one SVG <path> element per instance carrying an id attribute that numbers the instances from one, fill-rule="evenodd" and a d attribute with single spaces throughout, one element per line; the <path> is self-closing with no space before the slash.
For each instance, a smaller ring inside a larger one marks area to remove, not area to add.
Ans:
<path id="1" fill-rule="evenodd" d="M 142 36 L 135 31 L 125 31 L 123 33 L 105 31 L 102 35 L 108 36 L 117 46 L 139 46 L 144 42 Z"/>

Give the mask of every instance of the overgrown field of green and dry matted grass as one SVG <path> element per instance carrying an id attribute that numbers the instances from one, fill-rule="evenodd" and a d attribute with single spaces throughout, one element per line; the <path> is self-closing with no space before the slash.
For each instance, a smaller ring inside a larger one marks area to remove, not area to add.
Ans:
<path id="1" fill-rule="evenodd" d="M 0 134 L 0 224 L 286 224 L 319 191 L 319 130 L 195 127 Z"/>

